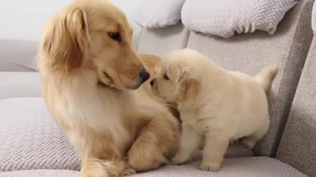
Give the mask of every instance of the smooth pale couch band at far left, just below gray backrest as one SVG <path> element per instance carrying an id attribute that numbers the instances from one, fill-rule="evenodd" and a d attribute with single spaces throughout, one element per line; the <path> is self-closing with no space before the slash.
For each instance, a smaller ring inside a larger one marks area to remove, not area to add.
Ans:
<path id="1" fill-rule="evenodd" d="M 40 75 L 37 72 L 0 72 L 0 100 L 11 97 L 40 97 Z"/>

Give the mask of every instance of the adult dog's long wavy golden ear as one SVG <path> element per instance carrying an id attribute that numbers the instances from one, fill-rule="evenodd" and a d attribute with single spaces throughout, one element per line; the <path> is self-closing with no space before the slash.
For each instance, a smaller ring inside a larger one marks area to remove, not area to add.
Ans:
<path id="1" fill-rule="evenodd" d="M 82 65 L 89 43 L 85 12 L 70 8 L 53 17 L 46 27 L 41 47 L 49 57 L 49 68 L 61 67 L 69 71 Z"/>

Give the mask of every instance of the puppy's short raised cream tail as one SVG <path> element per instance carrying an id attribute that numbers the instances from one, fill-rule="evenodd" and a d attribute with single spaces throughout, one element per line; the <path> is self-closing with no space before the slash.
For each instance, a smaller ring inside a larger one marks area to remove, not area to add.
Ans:
<path id="1" fill-rule="evenodd" d="M 278 70 L 279 67 L 276 65 L 266 66 L 254 77 L 265 92 L 270 90 L 271 83 Z"/>

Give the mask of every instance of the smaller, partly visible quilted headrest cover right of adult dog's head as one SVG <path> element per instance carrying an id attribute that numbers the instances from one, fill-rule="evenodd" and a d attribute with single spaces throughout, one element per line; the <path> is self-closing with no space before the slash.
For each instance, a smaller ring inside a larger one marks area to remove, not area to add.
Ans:
<path id="1" fill-rule="evenodd" d="M 135 13 L 136 23 L 147 28 L 175 25 L 181 20 L 185 0 L 146 0 Z"/>

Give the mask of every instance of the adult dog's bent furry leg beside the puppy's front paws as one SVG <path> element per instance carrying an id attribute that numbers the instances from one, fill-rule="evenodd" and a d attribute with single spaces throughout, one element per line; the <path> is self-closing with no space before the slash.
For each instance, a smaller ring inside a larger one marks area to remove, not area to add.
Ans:
<path id="1" fill-rule="evenodd" d="M 167 111 L 154 115 L 128 151 L 128 164 L 137 172 L 167 164 L 178 147 L 179 123 L 176 118 Z"/>

